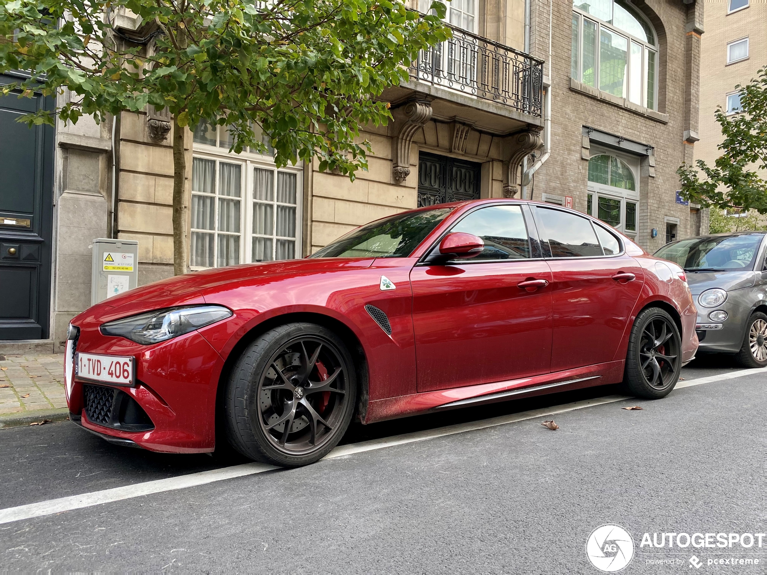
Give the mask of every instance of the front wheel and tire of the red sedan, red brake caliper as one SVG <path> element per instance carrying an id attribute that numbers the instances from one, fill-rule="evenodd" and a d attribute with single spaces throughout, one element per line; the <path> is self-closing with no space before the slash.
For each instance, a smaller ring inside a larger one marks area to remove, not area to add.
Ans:
<path id="1" fill-rule="evenodd" d="M 314 463 L 344 436 L 357 395 L 354 362 L 326 327 L 275 327 L 242 352 L 225 392 L 232 446 L 255 461 Z"/>

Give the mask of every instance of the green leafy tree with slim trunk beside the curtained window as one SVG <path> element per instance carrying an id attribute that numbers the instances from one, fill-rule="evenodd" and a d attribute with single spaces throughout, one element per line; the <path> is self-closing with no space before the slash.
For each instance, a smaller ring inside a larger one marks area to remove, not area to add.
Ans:
<path id="1" fill-rule="evenodd" d="M 143 23 L 142 38 L 112 27 L 125 8 Z M 355 142 L 359 126 L 391 119 L 376 97 L 407 81 L 418 51 L 449 36 L 445 6 L 432 8 L 423 16 L 400 0 L 0 0 L 0 73 L 31 71 L 3 92 L 77 95 L 19 119 L 30 125 L 169 108 L 173 267 L 182 274 L 187 126 L 229 126 L 235 153 L 265 151 L 260 126 L 278 166 L 317 156 L 320 170 L 354 179 L 370 151 Z"/>

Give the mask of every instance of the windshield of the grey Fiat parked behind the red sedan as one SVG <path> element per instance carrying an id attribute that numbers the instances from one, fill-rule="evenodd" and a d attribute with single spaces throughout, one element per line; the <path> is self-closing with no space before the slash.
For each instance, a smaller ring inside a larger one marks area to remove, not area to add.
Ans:
<path id="1" fill-rule="evenodd" d="M 736 271 L 752 269 L 762 234 L 713 235 L 673 241 L 655 252 L 685 271 Z"/>

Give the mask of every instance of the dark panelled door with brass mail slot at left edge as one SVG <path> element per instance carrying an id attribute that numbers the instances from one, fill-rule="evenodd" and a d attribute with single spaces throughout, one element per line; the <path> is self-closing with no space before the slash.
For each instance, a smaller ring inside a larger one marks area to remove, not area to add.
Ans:
<path id="1" fill-rule="evenodd" d="M 54 130 L 16 119 L 49 104 L 0 97 L 0 340 L 48 338 Z"/>

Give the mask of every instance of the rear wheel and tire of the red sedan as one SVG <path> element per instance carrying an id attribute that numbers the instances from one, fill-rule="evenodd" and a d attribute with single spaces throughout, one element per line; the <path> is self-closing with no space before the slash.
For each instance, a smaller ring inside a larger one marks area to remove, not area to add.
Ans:
<path id="1" fill-rule="evenodd" d="M 671 393 L 681 371 L 679 327 L 667 311 L 648 307 L 631 328 L 624 388 L 633 396 L 660 399 Z"/>

